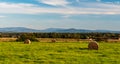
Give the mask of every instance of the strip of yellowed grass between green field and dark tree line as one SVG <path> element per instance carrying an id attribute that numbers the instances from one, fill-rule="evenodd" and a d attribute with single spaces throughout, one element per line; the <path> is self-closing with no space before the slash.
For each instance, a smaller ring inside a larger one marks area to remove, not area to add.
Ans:
<path id="1" fill-rule="evenodd" d="M 0 42 L 13 42 L 16 41 L 17 38 L 0 38 Z M 89 42 L 88 39 L 70 39 L 70 38 L 36 38 L 40 42 L 51 42 L 53 39 L 56 42 Z M 108 39 L 107 42 L 120 42 L 118 39 Z"/>

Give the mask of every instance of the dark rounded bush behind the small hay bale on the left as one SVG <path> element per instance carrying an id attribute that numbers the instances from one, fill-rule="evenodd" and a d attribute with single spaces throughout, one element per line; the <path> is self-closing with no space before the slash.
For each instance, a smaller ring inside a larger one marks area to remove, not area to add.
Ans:
<path id="1" fill-rule="evenodd" d="M 32 33 L 21 34 L 16 41 L 25 41 L 26 39 L 31 41 L 38 41 Z"/>

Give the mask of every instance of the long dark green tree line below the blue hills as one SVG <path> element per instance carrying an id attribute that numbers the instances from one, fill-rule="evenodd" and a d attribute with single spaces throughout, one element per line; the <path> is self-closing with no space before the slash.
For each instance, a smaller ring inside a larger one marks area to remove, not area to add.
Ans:
<path id="1" fill-rule="evenodd" d="M 74 39 L 118 39 L 120 33 L 0 33 L 0 37 L 20 38 L 74 38 Z"/>

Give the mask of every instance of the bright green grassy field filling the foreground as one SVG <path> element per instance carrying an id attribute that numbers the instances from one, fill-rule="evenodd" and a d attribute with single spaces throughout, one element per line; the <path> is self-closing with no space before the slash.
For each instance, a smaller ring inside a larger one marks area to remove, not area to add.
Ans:
<path id="1" fill-rule="evenodd" d="M 99 50 L 87 46 L 85 42 L 0 42 L 0 64 L 120 64 L 120 43 L 99 43 Z"/>

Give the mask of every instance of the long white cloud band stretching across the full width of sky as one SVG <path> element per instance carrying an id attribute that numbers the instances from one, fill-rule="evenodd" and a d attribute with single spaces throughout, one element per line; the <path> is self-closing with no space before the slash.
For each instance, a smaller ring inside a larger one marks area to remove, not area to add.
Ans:
<path id="1" fill-rule="evenodd" d="M 90 7 L 71 7 L 67 8 L 43 8 L 33 4 L 25 3 L 0 3 L 0 13 L 6 14 L 43 14 L 43 13 L 57 13 L 57 14 L 120 14 L 120 6 L 114 4 L 87 4 Z M 95 6 L 96 7 L 93 7 Z M 64 16 L 68 17 L 68 16 Z"/>

